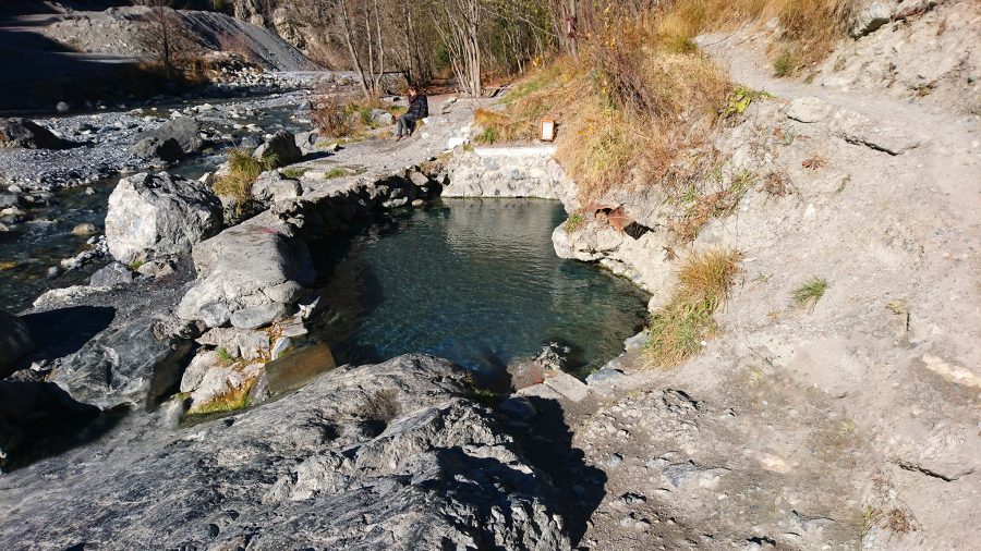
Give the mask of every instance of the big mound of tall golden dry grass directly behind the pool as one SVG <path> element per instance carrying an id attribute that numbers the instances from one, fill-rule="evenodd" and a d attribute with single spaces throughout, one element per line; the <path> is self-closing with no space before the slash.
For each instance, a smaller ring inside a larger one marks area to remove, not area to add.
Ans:
<path id="1" fill-rule="evenodd" d="M 506 97 L 504 112 L 479 113 L 479 140 L 534 139 L 542 118 L 556 119 L 556 158 L 585 201 L 673 180 L 678 156 L 705 142 L 732 87 L 703 56 L 658 52 L 641 46 L 656 40 L 646 28 L 632 33 L 536 72 Z"/>

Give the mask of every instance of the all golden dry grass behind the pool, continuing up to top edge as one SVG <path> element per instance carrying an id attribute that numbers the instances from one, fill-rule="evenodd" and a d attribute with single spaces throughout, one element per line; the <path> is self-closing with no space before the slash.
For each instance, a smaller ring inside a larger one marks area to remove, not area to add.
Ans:
<path id="1" fill-rule="evenodd" d="M 702 33 L 776 17 L 773 54 L 792 74 L 823 59 L 851 21 L 852 0 L 676 0 L 598 16 L 578 58 L 561 57 L 518 85 L 504 111 L 479 111 L 477 142 L 534 139 L 559 123 L 557 158 L 581 199 L 659 183 L 685 193 L 712 169 L 706 144 L 719 120 L 760 93 L 736 87 L 695 48 Z M 712 209 L 708 209 L 712 210 Z"/>

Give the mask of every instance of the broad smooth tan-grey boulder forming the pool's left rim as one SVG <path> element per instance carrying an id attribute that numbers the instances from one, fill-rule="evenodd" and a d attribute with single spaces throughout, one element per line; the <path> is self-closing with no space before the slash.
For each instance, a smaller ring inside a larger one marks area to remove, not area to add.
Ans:
<path id="1" fill-rule="evenodd" d="M 284 316 L 314 273 L 306 245 L 284 224 L 257 217 L 194 247 L 197 282 L 177 315 L 208 327 L 255 329 Z"/>

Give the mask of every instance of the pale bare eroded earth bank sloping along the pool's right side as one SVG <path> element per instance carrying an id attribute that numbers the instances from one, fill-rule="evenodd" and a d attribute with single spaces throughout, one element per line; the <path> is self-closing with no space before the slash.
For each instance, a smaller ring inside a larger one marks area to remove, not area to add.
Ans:
<path id="1" fill-rule="evenodd" d="M 562 403 L 607 480 L 583 541 L 961 549 L 981 489 L 977 119 L 773 79 L 765 38 L 723 38 L 705 42 L 718 62 L 771 97 L 717 131 L 700 193 L 613 189 L 556 230 L 560 254 L 654 293 L 654 315 L 691 254 L 742 253 L 695 357 L 650 369 L 641 347 L 584 387 L 524 392 Z M 453 160 L 457 193 L 574 195 L 544 158 L 481 154 Z"/>

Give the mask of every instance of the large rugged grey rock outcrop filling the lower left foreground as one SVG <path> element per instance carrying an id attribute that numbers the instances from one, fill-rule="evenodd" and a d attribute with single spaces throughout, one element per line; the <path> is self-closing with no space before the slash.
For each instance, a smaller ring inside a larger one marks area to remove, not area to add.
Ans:
<path id="1" fill-rule="evenodd" d="M 0 519 L 0 543 L 568 549 L 548 478 L 467 397 L 465 380 L 423 355 L 344 367 L 193 436 L 49 463 L 75 476 L 45 500 L 27 500 L 23 479 L 5 482 L 25 505 Z M 92 503 L 100 514 L 77 514 Z M 26 522 L 36 518 L 46 522 Z"/>

